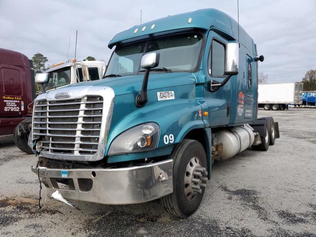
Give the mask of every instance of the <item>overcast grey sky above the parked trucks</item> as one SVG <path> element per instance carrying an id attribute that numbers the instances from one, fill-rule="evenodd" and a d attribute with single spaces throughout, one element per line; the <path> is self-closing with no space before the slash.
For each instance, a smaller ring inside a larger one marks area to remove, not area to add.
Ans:
<path id="1" fill-rule="evenodd" d="M 107 45 L 118 32 L 142 22 L 201 8 L 217 8 L 237 20 L 237 0 L 0 0 L 0 47 L 49 64 L 93 56 L 108 62 Z M 239 0 L 239 23 L 265 56 L 259 72 L 269 83 L 300 81 L 316 69 L 316 0 Z"/>

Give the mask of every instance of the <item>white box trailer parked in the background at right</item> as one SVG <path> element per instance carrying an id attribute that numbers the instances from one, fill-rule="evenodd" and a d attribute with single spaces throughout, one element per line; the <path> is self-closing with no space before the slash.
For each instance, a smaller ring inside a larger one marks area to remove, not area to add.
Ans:
<path id="1" fill-rule="evenodd" d="M 285 110 L 289 104 L 302 105 L 303 83 L 287 82 L 258 85 L 258 108 Z"/>

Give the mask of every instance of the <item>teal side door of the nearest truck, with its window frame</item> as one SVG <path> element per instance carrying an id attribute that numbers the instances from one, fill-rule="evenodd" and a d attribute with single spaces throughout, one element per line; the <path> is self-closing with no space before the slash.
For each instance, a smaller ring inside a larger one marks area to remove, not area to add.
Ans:
<path id="1" fill-rule="evenodd" d="M 204 73 L 206 88 L 204 99 L 208 105 L 208 119 L 212 127 L 227 125 L 230 122 L 230 109 L 234 76 L 217 91 L 210 91 L 211 81 L 222 82 L 225 75 L 225 55 L 228 40 L 214 31 L 208 33 L 204 52 Z"/>

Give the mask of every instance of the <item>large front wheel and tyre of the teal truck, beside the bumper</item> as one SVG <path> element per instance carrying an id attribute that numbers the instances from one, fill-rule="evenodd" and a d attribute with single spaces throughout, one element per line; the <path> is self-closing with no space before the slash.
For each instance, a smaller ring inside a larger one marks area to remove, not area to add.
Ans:
<path id="1" fill-rule="evenodd" d="M 207 162 L 203 146 L 184 139 L 172 152 L 173 193 L 161 197 L 164 208 L 172 215 L 187 218 L 199 207 L 207 181 Z"/>

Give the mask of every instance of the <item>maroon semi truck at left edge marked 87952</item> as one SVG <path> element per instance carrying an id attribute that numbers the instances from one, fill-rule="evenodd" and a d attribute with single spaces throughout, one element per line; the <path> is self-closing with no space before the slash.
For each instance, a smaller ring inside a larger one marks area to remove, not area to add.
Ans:
<path id="1" fill-rule="evenodd" d="M 34 83 L 32 60 L 22 53 L 0 48 L 0 138 L 13 135 L 21 121 L 32 117 Z M 18 139 L 27 140 L 23 135 Z M 30 150 L 26 143 L 22 145 Z"/>

